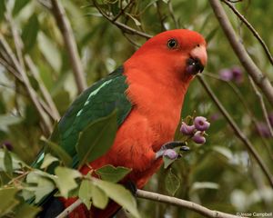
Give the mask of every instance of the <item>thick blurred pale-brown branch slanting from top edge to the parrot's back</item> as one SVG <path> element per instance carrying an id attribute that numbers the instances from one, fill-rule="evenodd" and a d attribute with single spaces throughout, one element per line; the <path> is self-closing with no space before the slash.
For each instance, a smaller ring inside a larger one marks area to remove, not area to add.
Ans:
<path id="1" fill-rule="evenodd" d="M 66 49 L 73 68 L 74 77 L 76 79 L 77 91 L 78 94 L 80 94 L 86 89 L 87 85 L 84 68 L 76 47 L 76 40 L 69 20 L 66 17 L 66 11 L 63 5 L 61 5 L 59 0 L 51 0 L 51 4 L 52 12 L 56 18 L 56 23 L 65 41 Z"/>

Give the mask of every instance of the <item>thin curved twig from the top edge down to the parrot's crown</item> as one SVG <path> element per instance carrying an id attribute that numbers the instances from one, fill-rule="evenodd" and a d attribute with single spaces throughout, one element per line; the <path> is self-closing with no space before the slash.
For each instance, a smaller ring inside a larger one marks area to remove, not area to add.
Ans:
<path id="1" fill-rule="evenodd" d="M 118 28 L 130 33 L 130 34 L 133 34 L 133 35 L 139 35 L 139 36 L 142 36 L 146 39 L 149 39 L 152 37 L 152 35 L 147 35 L 146 33 L 144 32 L 141 32 L 141 31 L 138 31 L 128 25 L 125 25 L 125 24 L 122 24 L 116 20 L 114 20 L 114 18 L 106 15 L 106 13 L 99 7 L 99 5 L 97 5 L 96 3 L 96 0 L 92 0 L 93 1 L 93 4 L 96 6 L 96 9 L 98 10 L 98 12 L 103 15 L 108 21 L 110 21 L 113 25 L 116 25 Z"/>

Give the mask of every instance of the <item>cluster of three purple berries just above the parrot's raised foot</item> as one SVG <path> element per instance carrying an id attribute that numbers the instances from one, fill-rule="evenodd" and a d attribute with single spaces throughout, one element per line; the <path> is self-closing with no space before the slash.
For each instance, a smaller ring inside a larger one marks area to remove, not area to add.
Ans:
<path id="1" fill-rule="evenodd" d="M 182 122 L 180 127 L 180 132 L 182 134 L 188 135 L 196 144 L 205 144 L 205 131 L 209 128 L 210 123 L 207 122 L 207 118 L 204 116 L 197 116 L 194 119 L 192 125 L 188 125 L 185 122 Z"/>

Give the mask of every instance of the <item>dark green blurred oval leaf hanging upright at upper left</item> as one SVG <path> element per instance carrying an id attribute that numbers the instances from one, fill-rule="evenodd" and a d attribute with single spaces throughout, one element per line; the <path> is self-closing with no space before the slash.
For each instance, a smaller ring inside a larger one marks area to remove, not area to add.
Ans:
<path id="1" fill-rule="evenodd" d="M 36 43 L 39 31 L 39 21 L 37 16 L 32 15 L 23 28 L 22 39 L 25 45 L 25 52 L 29 52 Z"/>

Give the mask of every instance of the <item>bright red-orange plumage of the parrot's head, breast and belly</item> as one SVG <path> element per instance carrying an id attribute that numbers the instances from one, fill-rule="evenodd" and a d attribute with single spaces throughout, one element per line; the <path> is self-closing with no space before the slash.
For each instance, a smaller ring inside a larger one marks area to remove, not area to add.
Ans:
<path id="1" fill-rule="evenodd" d="M 177 41 L 176 48 L 169 48 L 170 39 Z M 143 188 L 157 171 L 162 158 L 155 155 L 160 147 L 173 140 L 180 112 L 192 74 L 187 72 L 187 59 L 198 58 L 207 63 L 206 42 L 196 32 L 180 29 L 167 31 L 147 41 L 124 64 L 126 94 L 133 109 L 119 127 L 111 149 L 90 163 L 97 169 L 106 164 L 132 168 L 125 181 L 133 181 Z M 82 173 L 89 167 L 83 166 Z M 66 206 L 75 199 L 68 199 Z M 88 212 L 84 205 L 69 217 L 110 217 L 119 205 L 109 203 L 105 210 L 93 208 Z M 93 215 L 91 215 L 93 214 Z"/>

